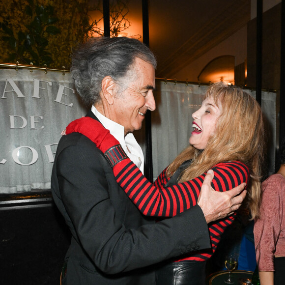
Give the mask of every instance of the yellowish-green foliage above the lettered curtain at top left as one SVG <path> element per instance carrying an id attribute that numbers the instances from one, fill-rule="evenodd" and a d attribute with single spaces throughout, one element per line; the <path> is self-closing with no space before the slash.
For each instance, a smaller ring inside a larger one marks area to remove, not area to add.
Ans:
<path id="1" fill-rule="evenodd" d="M 130 26 L 125 1 L 110 1 L 111 36 Z M 101 0 L 1 0 L 0 62 L 69 69 L 70 54 L 79 42 L 104 35 L 98 26 L 103 19 L 99 3 Z M 91 11 L 102 17 L 92 22 Z"/>

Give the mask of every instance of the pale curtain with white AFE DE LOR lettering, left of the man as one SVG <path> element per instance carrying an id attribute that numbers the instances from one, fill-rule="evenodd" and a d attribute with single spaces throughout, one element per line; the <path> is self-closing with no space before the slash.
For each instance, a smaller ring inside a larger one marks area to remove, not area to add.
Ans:
<path id="1" fill-rule="evenodd" d="M 85 115 L 69 73 L 0 70 L 0 193 L 49 189 L 57 143 Z"/>

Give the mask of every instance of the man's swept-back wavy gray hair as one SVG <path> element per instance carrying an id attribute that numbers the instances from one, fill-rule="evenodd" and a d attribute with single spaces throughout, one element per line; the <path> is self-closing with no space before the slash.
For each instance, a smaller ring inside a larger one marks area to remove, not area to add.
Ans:
<path id="1" fill-rule="evenodd" d="M 156 68 L 156 58 L 139 40 L 126 37 L 90 38 L 72 55 L 71 76 L 83 103 L 89 107 L 100 101 L 101 83 L 106 76 L 122 86 L 135 58 Z"/>

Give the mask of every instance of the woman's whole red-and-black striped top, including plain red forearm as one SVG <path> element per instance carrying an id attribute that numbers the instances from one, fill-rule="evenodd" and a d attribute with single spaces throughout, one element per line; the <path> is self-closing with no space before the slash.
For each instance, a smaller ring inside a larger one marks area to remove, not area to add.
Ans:
<path id="1" fill-rule="evenodd" d="M 66 134 L 71 132 L 80 132 L 96 143 L 112 166 L 116 181 L 144 215 L 171 217 L 196 205 L 205 173 L 190 181 L 167 187 L 170 178 L 164 170 L 154 184 L 151 184 L 125 155 L 118 141 L 96 120 L 88 117 L 77 119 L 66 128 Z M 212 187 L 216 191 L 228 191 L 243 182 L 249 182 L 248 167 L 238 161 L 219 163 L 212 170 L 215 174 Z M 234 216 L 208 225 L 211 251 L 196 252 L 180 260 L 204 261 L 211 257 Z"/>

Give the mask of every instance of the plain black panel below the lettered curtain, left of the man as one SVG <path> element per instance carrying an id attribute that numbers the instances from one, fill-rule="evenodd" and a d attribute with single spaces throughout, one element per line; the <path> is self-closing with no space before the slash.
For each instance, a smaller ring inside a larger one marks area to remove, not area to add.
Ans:
<path id="1" fill-rule="evenodd" d="M 57 207 L 0 209 L 0 284 L 59 285 L 70 233 Z"/>

